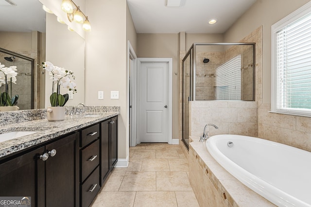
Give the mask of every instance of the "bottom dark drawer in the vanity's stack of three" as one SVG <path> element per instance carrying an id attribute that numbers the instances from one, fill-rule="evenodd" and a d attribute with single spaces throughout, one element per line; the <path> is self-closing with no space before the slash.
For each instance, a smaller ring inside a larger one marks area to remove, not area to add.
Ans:
<path id="1" fill-rule="evenodd" d="M 81 190 L 82 207 L 88 207 L 100 190 L 99 167 L 82 184 Z"/>

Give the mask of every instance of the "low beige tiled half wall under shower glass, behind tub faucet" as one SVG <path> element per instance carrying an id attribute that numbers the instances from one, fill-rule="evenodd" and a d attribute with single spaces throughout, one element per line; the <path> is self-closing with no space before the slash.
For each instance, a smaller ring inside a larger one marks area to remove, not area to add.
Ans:
<path id="1" fill-rule="evenodd" d="M 190 102 L 190 135 L 199 138 L 204 126 L 209 135 L 235 134 L 258 137 L 257 102 L 195 101 Z"/>

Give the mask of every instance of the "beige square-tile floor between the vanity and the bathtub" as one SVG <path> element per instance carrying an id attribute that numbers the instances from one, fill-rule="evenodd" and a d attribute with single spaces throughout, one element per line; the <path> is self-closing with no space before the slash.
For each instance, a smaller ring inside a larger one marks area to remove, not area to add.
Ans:
<path id="1" fill-rule="evenodd" d="M 179 145 L 141 143 L 127 168 L 115 168 L 92 207 L 199 207 Z"/>

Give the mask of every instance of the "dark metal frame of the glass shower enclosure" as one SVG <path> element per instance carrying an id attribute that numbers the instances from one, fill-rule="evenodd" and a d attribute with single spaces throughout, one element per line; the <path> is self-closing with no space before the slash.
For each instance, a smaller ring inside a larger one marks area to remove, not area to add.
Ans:
<path id="1" fill-rule="evenodd" d="M 255 53 L 255 47 L 256 47 L 256 43 L 193 43 L 190 47 L 190 49 L 188 50 L 188 52 L 186 53 L 185 57 L 182 59 L 182 72 L 183 72 L 183 80 L 182 80 L 182 141 L 185 143 L 185 146 L 189 149 L 189 109 L 186 110 L 185 106 L 189 106 L 189 102 L 190 101 L 196 101 L 196 81 L 195 81 L 195 74 L 196 74 L 196 47 L 197 46 L 208 46 L 208 45 L 212 45 L 212 46 L 217 46 L 217 45 L 221 45 L 221 46 L 238 46 L 238 45 L 251 45 L 253 46 L 253 98 L 251 100 L 236 100 L 236 101 L 255 101 L 255 66 L 256 66 L 256 53 Z M 184 67 L 184 62 L 187 60 L 187 58 L 190 57 L 190 88 L 189 88 L 189 94 L 185 93 L 185 67 Z M 208 63 L 207 63 L 208 64 Z M 185 97 L 187 96 L 188 97 Z M 188 104 L 186 104 L 185 102 L 188 101 Z M 229 101 L 229 100 L 198 100 L 198 101 Z M 187 114 L 186 114 L 186 113 Z M 188 129 L 188 134 L 187 134 L 187 129 Z M 202 129 L 203 131 L 203 129 Z"/>

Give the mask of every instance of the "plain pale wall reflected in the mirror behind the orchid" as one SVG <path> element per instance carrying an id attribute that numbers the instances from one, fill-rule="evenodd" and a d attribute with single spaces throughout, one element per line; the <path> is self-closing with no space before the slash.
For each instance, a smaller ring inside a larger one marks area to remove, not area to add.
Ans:
<path id="1" fill-rule="evenodd" d="M 85 74 L 85 40 L 75 32 L 70 32 L 66 24 L 57 22 L 55 15 L 47 13 L 46 16 L 46 61 L 54 66 L 62 67 L 73 72 L 77 85 L 77 93 L 66 105 L 84 103 L 84 74 Z M 52 80 L 45 72 L 45 107 L 51 106 Z M 61 87 L 61 94 L 68 90 Z"/>

